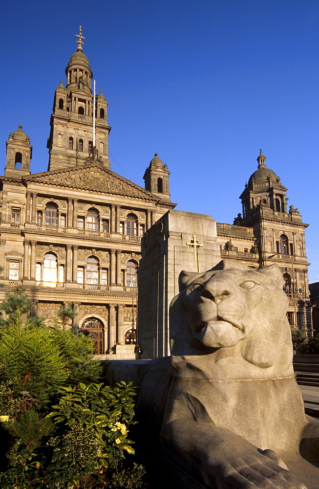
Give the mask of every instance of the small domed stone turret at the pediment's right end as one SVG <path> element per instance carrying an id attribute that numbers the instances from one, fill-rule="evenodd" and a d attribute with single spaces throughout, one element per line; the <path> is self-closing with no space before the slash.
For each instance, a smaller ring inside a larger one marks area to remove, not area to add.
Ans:
<path id="1" fill-rule="evenodd" d="M 170 202 L 170 172 L 167 169 L 167 164 L 163 165 L 163 161 L 158 157 L 157 153 L 150 160 L 143 179 L 145 180 L 146 190 L 149 190 L 161 200 Z"/>

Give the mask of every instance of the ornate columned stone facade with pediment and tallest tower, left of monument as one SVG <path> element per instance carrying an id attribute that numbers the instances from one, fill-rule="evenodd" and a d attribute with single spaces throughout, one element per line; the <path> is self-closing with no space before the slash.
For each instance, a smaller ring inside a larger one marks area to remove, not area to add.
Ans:
<path id="1" fill-rule="evenodd" d="M 57 87 L 48 171 L 30 172 L 32 146 L 19 126 L 7 141 L 0 178 L 0 266 L 6 290 L 23 286 L 47 324 L 63 303 L 93 351 L 134 341 L 141 237 L 170 202 L 167 165 L 155 155 L 145 189 L 110 170 L 107 101 L 94 98 L 92 70 L 78 50 Z M 95 131 L 93 133 L 93 127 Z"/>

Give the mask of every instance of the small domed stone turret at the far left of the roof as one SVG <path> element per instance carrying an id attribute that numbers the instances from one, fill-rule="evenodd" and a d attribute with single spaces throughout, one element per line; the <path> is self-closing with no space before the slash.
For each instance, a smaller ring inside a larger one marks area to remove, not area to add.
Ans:
<path id="1" fill-rule="evenodd" d="M 19 126 L 14 133 L 9 134 L 6 142 L 7 160 L 4 169 L 5 177 L 20 178 L 30 175 L 30 160 L 32 158 L 32 146 L 30 138 Z"/>

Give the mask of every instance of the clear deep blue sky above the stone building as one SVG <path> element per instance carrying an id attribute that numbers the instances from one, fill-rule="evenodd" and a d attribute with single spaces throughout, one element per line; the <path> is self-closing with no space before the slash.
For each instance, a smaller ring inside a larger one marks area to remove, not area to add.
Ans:
<path id="1" fill-rule="evenodd" d="M 47 169 L 54 90 L 81 24 L 109 102 L 111 169 L 144 186 L 157 152 L 177 209 L 233 222 L 262 148 L 310 224 L 319 281 L 319 1 L 16 0 L 1 14 L 1 173 L 19 124 L 31 171 Z"/>

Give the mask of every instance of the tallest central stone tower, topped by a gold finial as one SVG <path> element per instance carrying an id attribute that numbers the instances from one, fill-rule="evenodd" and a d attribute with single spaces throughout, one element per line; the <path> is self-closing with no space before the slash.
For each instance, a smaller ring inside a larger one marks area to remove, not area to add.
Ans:
<path id="1" fill-rule="evenodd" d="M 49 149 L 48 170 L 58 170 L 84 165 L 93 154 L 93 114 L 95 108 L 95 146 L 99 163 L 110 167 L 108 159 L 107 100 L 101 90 L 93 100 L 91 82 L 93 73 L 87 57 L 82 51 L 81 33 L 78 50 L 72 54 L 67 67 L 66 87 L 61 80 L 58 85 L 51 115 L 51 131 L 47 147 Z M 95 106 L 95 107 L 94 107 Z"/>

